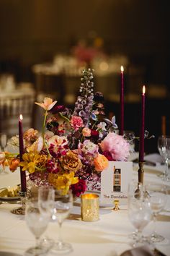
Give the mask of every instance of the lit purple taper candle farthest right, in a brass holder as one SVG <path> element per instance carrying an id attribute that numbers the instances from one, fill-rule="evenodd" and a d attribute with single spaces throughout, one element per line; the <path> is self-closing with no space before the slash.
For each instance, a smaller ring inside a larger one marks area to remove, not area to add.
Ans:
<path id="1" fill-rule="evenodd" d="M 143 85 L 142 107 L 141 107 L 141 122 L 140 122 L 140 142 L 139 142 L 139 161 L 140 162 L 143 162 L 143 158 L 144 158 L 145 98 L 146 98 L 146 87 L 145 87 L 145 85 Z"/>

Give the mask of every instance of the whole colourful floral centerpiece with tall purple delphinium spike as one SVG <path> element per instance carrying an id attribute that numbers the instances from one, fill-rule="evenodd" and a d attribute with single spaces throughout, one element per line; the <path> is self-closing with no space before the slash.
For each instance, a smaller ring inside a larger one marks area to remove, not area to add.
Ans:
<path id="1" fill-rule="evenodd" d="M 93 93 L 93 71 L 82 72 L 80 95 L 73 111 L 45 98 L 35 103 L 44 109 L 42 133 L 35 129 L 24 132 L 24 154 L 0 153 L 0 163 L 11 171 L 22 166 L 29 179 L 40 186 L 50 184 L 63 192 L 72 189 L 79 197 L 87 189 L 100 189 L 100 175 L 108 161 L 125 161 L 130 147 L 117 135 L 115 116 L 104 117 L 102 93 Z M 12 145 L 18 138 L 12 137 Z"/>

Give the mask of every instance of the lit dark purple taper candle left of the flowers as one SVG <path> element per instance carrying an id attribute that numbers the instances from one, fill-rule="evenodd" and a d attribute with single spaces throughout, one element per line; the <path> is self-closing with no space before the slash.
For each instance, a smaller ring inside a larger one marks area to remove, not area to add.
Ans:
<path id="1" fill-rule="evenodd" d="M 24 153 L 24 141 L 23 141 L 23 129 L 22 129 L 22 115 L 19 116 L 19 161 L 22 161 L 22 155 Z M 25 171 L 22 171 L 20 166 L 20 177 L 21 177 L 21 192 L 27 192 L 27 182 Z"/>

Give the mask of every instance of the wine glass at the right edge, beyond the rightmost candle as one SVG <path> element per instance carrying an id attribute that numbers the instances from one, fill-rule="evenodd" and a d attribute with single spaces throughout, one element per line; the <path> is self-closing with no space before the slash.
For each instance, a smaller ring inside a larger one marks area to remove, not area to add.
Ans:
<path id="1" fill-rule="evenodd" d="M 162 179 L 169 180 L 169 160 L 170 160 L 170 137 L 160 136 L 158 137 L 158 152 L 161 157 L 164 158 L 165 170 L 162 174 Z"/>

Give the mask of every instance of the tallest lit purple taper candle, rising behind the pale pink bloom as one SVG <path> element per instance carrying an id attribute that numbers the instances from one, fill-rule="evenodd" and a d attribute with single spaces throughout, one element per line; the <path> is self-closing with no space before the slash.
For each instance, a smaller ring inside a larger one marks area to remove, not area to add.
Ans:
<path id="1" fill-rule="evenodd" d="M 121 88 L 120 88 L 120 135 L 124 130 L 124 68 L 121 66 Z"/>

